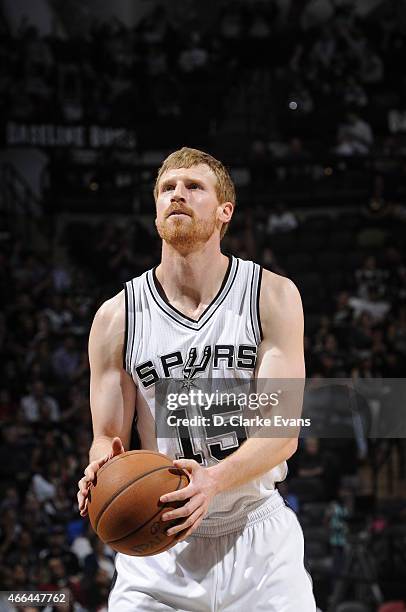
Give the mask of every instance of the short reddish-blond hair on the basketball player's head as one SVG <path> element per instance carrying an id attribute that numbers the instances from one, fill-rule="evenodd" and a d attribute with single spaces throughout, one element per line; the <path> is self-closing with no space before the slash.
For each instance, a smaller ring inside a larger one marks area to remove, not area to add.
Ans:
<path id="1" fill-rule="evenodd" d="M 223 164 L 199 149 L 190 149 L 182 147 L 178 151 L 174 151 L 163 161 L 162 166 L 158 170 L 158 175 L 155 181 L 154 197 L 158 197 L 158 185 L 164 172 L 167 170 L 176 170 L 178 168 L 192 168 L 199 164 L 205 164 L 213 171 L 216 176 L 216 194 L 217 199 L 222 204 L 223 202 L 231 202 L 236 204 L 235 187 L 231 176 Z M 220 239 L 223 238 L 228 228 L 228 223 L 223 223 L 220 231 Z"/>

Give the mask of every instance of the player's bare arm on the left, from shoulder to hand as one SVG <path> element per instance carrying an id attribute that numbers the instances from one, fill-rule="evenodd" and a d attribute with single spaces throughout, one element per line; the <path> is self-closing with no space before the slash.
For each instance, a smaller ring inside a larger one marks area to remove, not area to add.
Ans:
<path id="1" fill-rule="evenodd" d="M 89 337 L 90 406 L 93 443 L 89 465 L 79 481 L 78 502 L 86 513 L 90 482 L 97 470 L 115 455 L 128 450 L 134 419 L 136 388 L 123 367 L 125 338 L 124 292 L 97 311 Z"/>

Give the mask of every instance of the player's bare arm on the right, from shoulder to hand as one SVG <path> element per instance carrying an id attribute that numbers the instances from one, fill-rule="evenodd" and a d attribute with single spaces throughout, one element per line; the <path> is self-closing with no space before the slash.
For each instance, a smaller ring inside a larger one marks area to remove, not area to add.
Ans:
<path id="1" fill-rule="evenodd" d="M 304 379 L 303 309 L 294 283 L 264 270 L 260 314 L 263 341 L 258 349 L 256 377 L 272 380 Z M 296 436 L 252 437 L 226 459 L 209 468 L 189 459 L 174 461 L 176 467 L 189 472 L 190 483 L 180 491 L 164 495 L 161 501 L 189 501 L 182 508 L 164 515 L 164 520 L 186 518 L 168 530 L 168 533 L 175 534 L 186 529 L 182 535 L 183 538 L 188 537 L 203 520 L 215 495 L 259 478 L 289 459 L 296 448 Z"/>

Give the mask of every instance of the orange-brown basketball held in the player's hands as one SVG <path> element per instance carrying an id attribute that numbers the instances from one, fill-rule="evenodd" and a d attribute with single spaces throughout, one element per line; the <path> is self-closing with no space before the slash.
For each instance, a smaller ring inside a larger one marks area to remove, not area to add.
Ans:
<path id="1" fill-rule="evenodd" d="M 100 468 L 96 484 L 90 487 L 91 525 L 117 552 L 140 557 L 163 552 L 176 544 L 179 534 L 166 535 L 176 521 L 163 522 L 161 515 L 185 502 L 163 504 L 159 498 L 188 482 L 186 473 L 161 453 L 141 450 L 117 455 Z"/>

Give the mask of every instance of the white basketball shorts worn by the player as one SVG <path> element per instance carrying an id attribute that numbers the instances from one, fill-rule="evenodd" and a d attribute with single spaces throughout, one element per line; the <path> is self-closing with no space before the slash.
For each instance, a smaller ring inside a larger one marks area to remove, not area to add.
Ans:
<path id="1" fill-rule="evenodd" d="M 299 521 L 277 490 L 265 506 L 231 532 L 200 526 L 158 555 L 117 554 L 109 612 L 316 612 Z"/>

